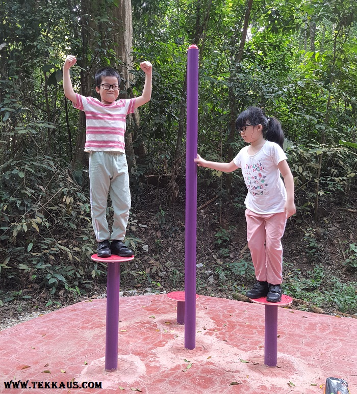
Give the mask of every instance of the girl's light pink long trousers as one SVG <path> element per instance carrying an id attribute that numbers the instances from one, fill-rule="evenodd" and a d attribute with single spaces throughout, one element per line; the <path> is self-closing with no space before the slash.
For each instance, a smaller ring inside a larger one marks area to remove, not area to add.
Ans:
<path id="1" fill-rule="evenodd" d="M 257 280 L 271 284 L 283 282 L 285 212 L 256 214 L 246 209 L 247 241 Z"/>

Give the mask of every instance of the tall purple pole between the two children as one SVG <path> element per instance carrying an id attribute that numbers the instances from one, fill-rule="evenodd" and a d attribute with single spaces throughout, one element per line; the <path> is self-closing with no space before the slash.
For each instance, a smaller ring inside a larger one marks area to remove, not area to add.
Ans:
<path id="1" fill-rule="evenodd" d="M 185 221 L 185 348 L 196 347 L 196 230 L 198 134 L 198 48 L 187 50 L 186 130 L 186 221 Z"/>

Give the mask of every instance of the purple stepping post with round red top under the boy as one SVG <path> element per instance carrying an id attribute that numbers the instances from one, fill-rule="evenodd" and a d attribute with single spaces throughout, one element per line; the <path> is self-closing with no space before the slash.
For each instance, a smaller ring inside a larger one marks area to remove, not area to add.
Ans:
<path id="1" fill-rule="evenodd" d="M 112 254 L 110 257 L 104 258 L 93 254 L 91 257 L 94 261 L 109 263 L 107 275 L 105 370 L 114 372 L 118 369 L 120 263 L 133 260 L 134 256 L 120 257 Z"/>

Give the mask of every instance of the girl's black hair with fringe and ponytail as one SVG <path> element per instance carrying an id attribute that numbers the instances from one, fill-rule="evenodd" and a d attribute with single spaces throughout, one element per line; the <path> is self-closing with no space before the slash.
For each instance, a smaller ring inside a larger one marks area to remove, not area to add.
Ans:
<path id="1" fill-rule="evenodd" d="M 236 120 L 236 128 L 243 127 L 247 123 L 254 126 L 261 124 L 263 126 L 263 137 L 283 148 L 284 132 L 282 125 L 276 118 L 269 118 L 261 108 L 248 107 L 239 114 Z"/>

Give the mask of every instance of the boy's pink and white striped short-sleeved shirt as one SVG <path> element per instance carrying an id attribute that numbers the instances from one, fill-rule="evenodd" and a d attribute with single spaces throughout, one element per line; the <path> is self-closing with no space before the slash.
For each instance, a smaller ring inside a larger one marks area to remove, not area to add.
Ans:
<path id="1" fill-rule="evenodd" d="M 135 98 L 120 99 L 103 104 L 97 98 L 75 94 L 77 103 L 73 107 L 86 114 L 85 152 L 115 151 L 125 153 L 124 134 L 126 115 L 135 111 Z"/>

